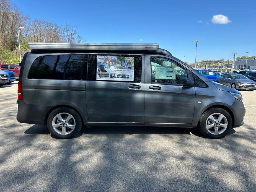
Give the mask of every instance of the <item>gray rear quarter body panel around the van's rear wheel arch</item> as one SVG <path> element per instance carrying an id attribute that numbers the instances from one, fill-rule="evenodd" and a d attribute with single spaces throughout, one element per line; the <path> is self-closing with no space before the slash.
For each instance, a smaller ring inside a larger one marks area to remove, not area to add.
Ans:
<path id="1" fill-rule="evenodd" d="M 88 122 L 85 100 L 86 81 L 27 78 L 33 61 L 42 55 L 58 54 L 28 53 L 22 72 L 24 100 L 19 100 L 17 120 L 20 123 L 44 124 L 49 110 L 57 105 L 67 105 L 75 108 L 86 124 Z"/>

